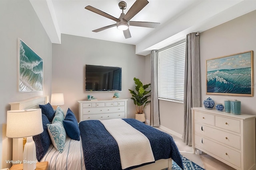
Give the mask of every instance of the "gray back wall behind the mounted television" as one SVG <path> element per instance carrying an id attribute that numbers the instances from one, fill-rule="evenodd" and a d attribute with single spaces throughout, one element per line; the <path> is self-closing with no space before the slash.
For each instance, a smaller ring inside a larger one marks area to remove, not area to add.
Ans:
<path id="1" fill-rule="evenodd" d="M 120 98 L 128 100 L 128 116 L 136 112 L 128 89 L 134 89 L 133 78 L 145 81 L 145 56 L 135 54 L 135 46 L 74 35 L 61 35 L 61 44 L 52 46 L 52 93 L 64 93 L 64 112 L 70 109 L 78 119 L 78 100 L 92 95 L 98 100 L 111 100 L 114 92 L 86 92 L 85 65 L 122 67 Z"/>

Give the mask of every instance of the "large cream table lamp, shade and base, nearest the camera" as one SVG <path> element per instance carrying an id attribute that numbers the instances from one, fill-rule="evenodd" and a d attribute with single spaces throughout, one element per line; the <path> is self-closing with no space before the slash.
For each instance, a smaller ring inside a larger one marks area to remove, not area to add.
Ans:
<path id="1" fill-rule="evenodd" d="M 32 136 L 43 131 L 41 109 L 7 111 L 6 137 L 27 138 L 23 152 L 23 170 L 36 169 L 36 145 Z"/>

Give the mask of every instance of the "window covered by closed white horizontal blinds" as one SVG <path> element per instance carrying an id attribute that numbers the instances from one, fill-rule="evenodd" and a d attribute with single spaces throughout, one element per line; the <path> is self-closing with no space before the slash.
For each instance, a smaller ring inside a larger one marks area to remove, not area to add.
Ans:
<path id="1" fill-rule="evenodd" d="M 183 103 L 186 40 L 158 51 L 158 99 Z"/>

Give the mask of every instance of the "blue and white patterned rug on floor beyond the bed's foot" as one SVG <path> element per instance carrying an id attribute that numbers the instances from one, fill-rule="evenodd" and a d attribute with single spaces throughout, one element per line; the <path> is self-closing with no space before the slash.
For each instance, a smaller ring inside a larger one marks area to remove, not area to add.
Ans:
<path id="1" fill-rule="evenodd" d="M 188 160 L 184 156 L 182 156 L 182 163 L 183 163 L 184 170 L 205 170 L 204 168 L 202 168 L 198 164 L 195 164 L 191 160 Z M 176 162 L 172 161 L 172 170 L 182 170 L 182 169 L 180 168 L 180 166 L 176 164 Z"/>

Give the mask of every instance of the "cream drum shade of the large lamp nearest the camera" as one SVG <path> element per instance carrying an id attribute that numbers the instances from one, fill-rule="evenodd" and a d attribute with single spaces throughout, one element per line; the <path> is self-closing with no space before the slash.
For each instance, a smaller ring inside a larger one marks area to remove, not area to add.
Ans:
<path id="1" fill-rule="evenodd" d="M 43 131 L 41 109 L 7 111 L 6 137 L 31 137 Z"/>

